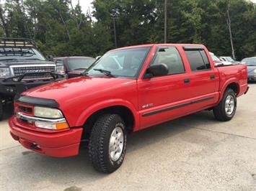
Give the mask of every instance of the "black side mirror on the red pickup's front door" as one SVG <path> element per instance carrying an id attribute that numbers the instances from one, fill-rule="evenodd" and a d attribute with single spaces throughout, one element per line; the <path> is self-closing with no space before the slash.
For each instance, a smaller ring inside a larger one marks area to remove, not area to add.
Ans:
<path id="1" fill-rule="evenodd" d="M 168 73 L 169 73 L 169 70 L 166 64 L 151 65 L 146 70 L 145 78 L 153 78 L 154 76 L 158 77 L 162 75 L 167 75 Z"/>

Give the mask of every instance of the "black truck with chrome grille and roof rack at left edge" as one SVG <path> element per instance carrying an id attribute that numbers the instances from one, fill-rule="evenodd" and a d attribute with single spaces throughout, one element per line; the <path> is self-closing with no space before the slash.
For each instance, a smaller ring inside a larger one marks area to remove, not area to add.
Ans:
<path id="1" fill-rule="evenodd" d="M 0 38 L 0 120 L 15 95 L 64 78 L 63 65 L 46 60 L 32 40 Z"/>

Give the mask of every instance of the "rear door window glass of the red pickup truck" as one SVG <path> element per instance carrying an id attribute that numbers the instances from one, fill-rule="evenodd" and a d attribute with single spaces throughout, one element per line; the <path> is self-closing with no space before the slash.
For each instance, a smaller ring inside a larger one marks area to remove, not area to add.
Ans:
<path id="1" fill-rule="evenodd" d="M 187 59 L 190 62 L 192 71 L 208 70 L 211 68 L 210 62 L 204 50 L 186 50 Z"/>

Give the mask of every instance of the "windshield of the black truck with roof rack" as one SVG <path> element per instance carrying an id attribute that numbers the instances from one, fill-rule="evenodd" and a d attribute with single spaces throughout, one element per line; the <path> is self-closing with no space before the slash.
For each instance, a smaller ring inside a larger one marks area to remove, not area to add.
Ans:
<path id="1" fill-rule="evenodd" d="M 10 62 L 12 60 L 42 60 L 45 57 L 34 48 L 0 48 L 0 62 Z"/>

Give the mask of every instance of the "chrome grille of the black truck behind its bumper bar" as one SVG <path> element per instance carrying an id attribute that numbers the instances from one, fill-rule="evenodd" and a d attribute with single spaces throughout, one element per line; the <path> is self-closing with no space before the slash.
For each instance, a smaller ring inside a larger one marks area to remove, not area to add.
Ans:
<path id="1" fill-rule="evenodd" d="M 55 73 L 55 65 L 25 65 L 25 66 L 13 66 L 12 73 L 14 76 L 23 75 L 25 73 Z M 22 80 L 44 80 L 53 78 L 49 74 L 31 74 L 25 76 Z"/>

